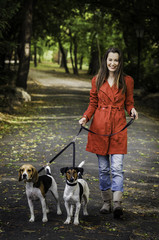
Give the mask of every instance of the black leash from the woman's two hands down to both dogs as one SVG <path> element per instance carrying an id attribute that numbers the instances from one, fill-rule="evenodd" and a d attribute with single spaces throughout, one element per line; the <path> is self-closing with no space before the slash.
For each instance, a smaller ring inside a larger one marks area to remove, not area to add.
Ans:
<path id="1" fill-rule="evenodd" d="M 57 153 L 50 161 L 49 164 L 51 164 L 58 156 L 60 156 L 69 146 L 73 145 L 73 167 L 75 167 L 75 141 L 77 139 L 77 137 L 79 136 L 79 134 L 81 133 L 82 129 L 86 130 L 87 132 L 96 134 L 96 135 L 100 135 L 100 136 L 107 136 L 107 137 L 111 137 L 113 135 L 116 135 L 122 131 L 124 131 L 124 129 L 126 129 L 127 127 L 129 127 L 133 122 L 134 122 L 135 116 L 134 118 L 132 118 L 119 132 L 116 133 L 112 133 L 112 134 L 99 134 L 99 133 L 95 133 L 91 130 L 89 130 L 88 128 L 85 128 L 84 126 L 81 125 L 79 132 L 77 133 L 77 135 L 75 136 L 75 138 L 66 146 L 64 147 L 59 153 Z M 42 170 L 44 170 L 45 167 L 42 167 L 39 169 L 38 173 L 40 173 Z"/>

